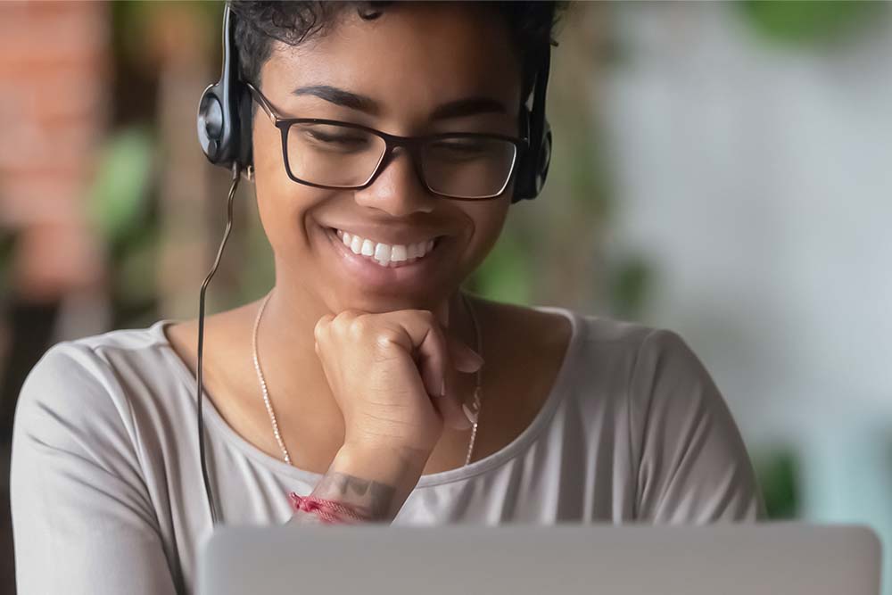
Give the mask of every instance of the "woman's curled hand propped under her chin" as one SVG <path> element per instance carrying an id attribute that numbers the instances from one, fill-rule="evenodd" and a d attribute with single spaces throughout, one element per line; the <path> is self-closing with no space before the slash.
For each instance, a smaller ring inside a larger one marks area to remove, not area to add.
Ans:
<path id="1" fill-rule="evenodd" d="M 448 302 L 436 314 L 344 310 L 318 320 L 316 353 L 343 414 L 345 445 L 411 453 L 423 465 L 444 426 L 470 427 L 450 377 L 475 372 L 483 359 L 448 326 Z"/>

